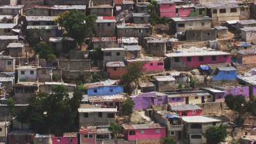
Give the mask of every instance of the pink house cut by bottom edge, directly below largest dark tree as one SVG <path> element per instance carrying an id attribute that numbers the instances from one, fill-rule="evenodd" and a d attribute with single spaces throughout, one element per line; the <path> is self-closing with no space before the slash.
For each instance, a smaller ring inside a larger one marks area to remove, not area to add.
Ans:
<path id="1" fill-rule="evenodd" d="M 65 132 L 63 136 L 53 136 L 52 144 L 77 144 L 78 136 L 76 132 Z"/>

